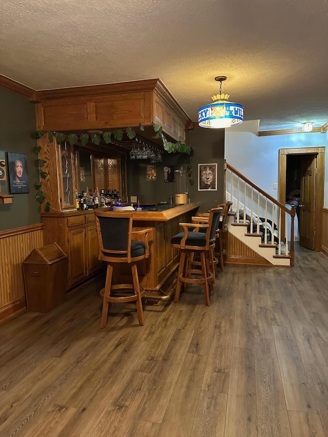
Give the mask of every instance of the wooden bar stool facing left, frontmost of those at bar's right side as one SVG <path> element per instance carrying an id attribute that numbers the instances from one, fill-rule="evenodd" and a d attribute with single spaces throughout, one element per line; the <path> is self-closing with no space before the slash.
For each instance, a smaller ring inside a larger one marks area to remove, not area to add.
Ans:
<path id="1" fill-rule="evenodd" d="M 179 301 L 183 283 L 203 284 L 205 303 L 210 305 L 210 290 L 213 287 L 211 262 L 213 265 L 213 247 L 221 211 L 222 208 L 212 209 L 207 224 L 179 223 L 183 227 L 183 232 L 171 239 L 172 246 L 181 251 L 174 302 Z M 206 233 L 200 232 L 201 229 L 206 229 Z M 200 255 L 201 270 L 189 269 L 189 256 L 194 253 Z M 201 275 L 201 278 L 192 278 L 190 273 Z"/>

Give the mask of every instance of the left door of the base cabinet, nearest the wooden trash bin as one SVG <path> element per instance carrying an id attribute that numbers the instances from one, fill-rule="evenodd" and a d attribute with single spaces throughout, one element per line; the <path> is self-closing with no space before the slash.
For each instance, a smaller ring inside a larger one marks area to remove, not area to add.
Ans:
<path id="1" fill-rule="evenodd" d="M 77 227 L 68 231 L 69 285 L 86 277 L 86 231 Z"/>

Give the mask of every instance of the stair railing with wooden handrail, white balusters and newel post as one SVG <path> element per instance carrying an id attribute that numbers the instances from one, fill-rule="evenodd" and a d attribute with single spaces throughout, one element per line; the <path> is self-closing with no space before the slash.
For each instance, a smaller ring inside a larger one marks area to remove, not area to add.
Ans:
<path id="1" fill-rule="evenodd" d="M 248 223 L 251 235 L 264 234 L 263 245 L 276 246 L 277 256 L 289 255 L 291 265 L 294 265 L 295 206 L 288 209 L 227 162 L 224 166 L 224 186 L 226 200 L 233 202 L 232 212 L 235 213 L 236 222 Z M 274 237 L 278 243 L 275 243 Z"/>

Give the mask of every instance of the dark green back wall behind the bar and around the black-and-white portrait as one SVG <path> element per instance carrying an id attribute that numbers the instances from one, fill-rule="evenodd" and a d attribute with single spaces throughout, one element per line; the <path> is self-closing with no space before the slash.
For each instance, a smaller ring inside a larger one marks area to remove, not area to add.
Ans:
<path id="1" fill-rule="evenodd" d="M 189 144 L 194 149 L 192 158 L 192 172 L 195 184 L 189 187 L 189 197 L 192 201 L 200 202 L 199 211 L 208 211 L 211 207 L 223 201 L 223 178 L 224 178 L 224 130 L 209 130 L 197 128 L 189 131 Z M 178 170 L 182 165 L 187 168 L 189 157 L 182 154 L 163 153 L 163 161 L 156 164 L 157 178 L 148 181 L 146 177 L 149 161 L 137 161 L 128 158 L 128 193 L 137 196 L 141 202 L 168 202 L 170 195 L 176 193 L 175 183 L 164 182 L 164 167 L 173 166 Z M 217 163 L 218 180 L 217 191 L 198 191 L 198 164 Z"/>

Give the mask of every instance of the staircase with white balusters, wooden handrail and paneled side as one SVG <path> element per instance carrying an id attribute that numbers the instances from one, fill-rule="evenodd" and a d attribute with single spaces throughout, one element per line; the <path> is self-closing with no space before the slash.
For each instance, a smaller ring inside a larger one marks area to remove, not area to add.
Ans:
<path id="1" fill-rule="evenodd" d="M 224 184 L 226 200 L 233 202 L 227 262 L 294 265 L 295 208 L 289 210 L 228 163 Z"/>

